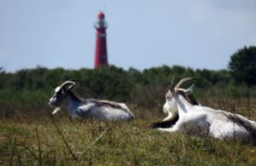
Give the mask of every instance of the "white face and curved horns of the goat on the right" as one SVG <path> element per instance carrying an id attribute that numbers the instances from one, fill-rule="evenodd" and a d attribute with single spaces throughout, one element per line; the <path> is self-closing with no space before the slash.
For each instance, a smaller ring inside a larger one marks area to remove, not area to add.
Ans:
<path id="1" fill-rule="evenodd" d="M 192 91 L 194 84 L 192 84 L 192 86 L 189 87 L 189 89 L 181 89 L 179 88 L 183 83 L 189 81 L 189 80 L 193 80 L 195 78 L 192 77 L 185 77 L 182 80 L 180 80 L 177 85 L 174 87 L 173 85 L 173 80 L 174 77 L 172 78 L 172 84 L 170 86 L 170 89 L 167 91 L 166 93 L 166 103 L 163 107 L 163 112 L 165 113 L 172 113 L 172 114 L 177 114 L 177 104 L 176 104 L 176 97 L 177 94 L 182 94 L 183 97 L 187 100 L 192 100 L 191 96 L 189 96 L 189 92 Z M 192 96 L 193 97 L 193 96 Z M 198 105 L 196 101 L 194 101 L 195 99 L 193 99 L 193 102 L 195 102 L 195 105 Z"/>

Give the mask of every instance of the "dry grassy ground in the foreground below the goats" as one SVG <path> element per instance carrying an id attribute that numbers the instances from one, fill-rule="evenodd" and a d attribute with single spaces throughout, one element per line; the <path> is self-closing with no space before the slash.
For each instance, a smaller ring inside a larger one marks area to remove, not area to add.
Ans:
<path id="1" fill-rule="evenodd" d="M 148 129 L 131 122 L 54 117 L 0 119 L 0 164 L 255 165 L 256 146 Z M 60 131 L 60 133 L 58 132 Z"/>

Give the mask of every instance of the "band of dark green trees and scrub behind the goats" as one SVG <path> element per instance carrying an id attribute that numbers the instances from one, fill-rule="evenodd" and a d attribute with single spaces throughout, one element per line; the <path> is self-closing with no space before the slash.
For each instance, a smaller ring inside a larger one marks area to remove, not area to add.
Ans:
<path id="1" fill-rule="evenodd" d="M 195 95 L 255 97 L 256 48 L 239 49 L 230 58 L 228 70 L 193 70 L 183 66 L 160 66 L 138 71 L 116 66 L 65 70 L 38 66 L 15 73 L 0 68 L 0 112 L 44 112 L 54 89 L 67 80 L 76 80 L 74 93 L 84 98 L 128 102 L 143 109 L 160 109 L 172 81 L 195 77 Z M 189 84 L 185 84 L 184 87 Z"/>

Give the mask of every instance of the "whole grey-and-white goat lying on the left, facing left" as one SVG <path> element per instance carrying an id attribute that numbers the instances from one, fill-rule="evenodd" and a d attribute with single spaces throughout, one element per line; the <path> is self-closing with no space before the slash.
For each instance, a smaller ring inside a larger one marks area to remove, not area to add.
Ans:
<path id="1" fill-rule="evenodd" d="M 55 94 L 49 100 L 49 106 L 54 106 L 58 112 L 61 106 L 67 108 L 72 117 L 95 118 L 99 120 L 131 120 L 133 113 L 123 103 L 108 100 L 81 99 L 73 94 L 75 83 L 66 81 L 55 89 Z"/>

